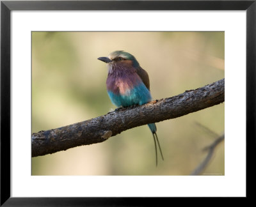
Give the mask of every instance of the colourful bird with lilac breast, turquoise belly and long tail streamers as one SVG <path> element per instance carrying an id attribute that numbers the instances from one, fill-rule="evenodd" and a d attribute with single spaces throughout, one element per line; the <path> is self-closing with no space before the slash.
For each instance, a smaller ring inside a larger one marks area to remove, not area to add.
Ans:
<path id="1" fill-rule="evenodd" d="M 108 57 L 99 57 L 98 59 L 107 63 L 107 91 L 111 102 L 118 109 L 147 104 L 152 100 L 148 73 L 141 68 L 132 54 L 124 50 L 116 50 L 111 52 Z M 157 145 L 162 160 L 164 160 L 163 153 L 156 134 L 156 124 L 150 123 L 148 127 L 154 138 L 157 166 Z"/>

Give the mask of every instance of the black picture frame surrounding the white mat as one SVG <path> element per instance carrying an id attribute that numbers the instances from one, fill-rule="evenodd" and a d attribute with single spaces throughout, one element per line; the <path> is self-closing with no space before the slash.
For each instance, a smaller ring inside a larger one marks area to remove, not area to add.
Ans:
<path id="1" fill-rule="evenodd" d="M 246 10 L 246 197 L 252 198 L 253 190 L 250 189 L 254 187 L 255 175 L 250 168 L 255 165 L 256 146 L 255 1 L 1 1 L 1 206 L 152 206 L 153 201 L 161 204 L 170 199 L 10 197 L 10 12 L 12 10 Z M 236 112 L 234 112 L 235 117 Z"/>

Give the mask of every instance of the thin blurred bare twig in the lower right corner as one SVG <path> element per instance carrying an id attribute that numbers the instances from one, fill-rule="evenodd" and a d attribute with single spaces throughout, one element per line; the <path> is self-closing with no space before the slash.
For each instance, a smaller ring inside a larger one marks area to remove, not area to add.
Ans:
<path id="1" fill-rule="evenodd" d="M 225 139 L 225 135 L 223 134 L 223 135 L 221 135 L 221 137 L 219 137 L 214 142 L 212 142 L 212 144 L 210 146 L 207 146 L 203 149 L 204 151 L 208 150 L 208 154 L 205 157 L 205 159 L 203 160 L 203 162 L 201 162 L 198 165 L 198 167 L 196 167 L 196 169 L 193 171 L 193 173 L 191 173 L 190 175 L 198 175 L 198 174 L 202 173 L 202 171 L 205 169 L 207 164 L 209 164 L 216 146 L 218 144 L 220 144 L 220 142 L 223 141 L 224 139 Z"/>

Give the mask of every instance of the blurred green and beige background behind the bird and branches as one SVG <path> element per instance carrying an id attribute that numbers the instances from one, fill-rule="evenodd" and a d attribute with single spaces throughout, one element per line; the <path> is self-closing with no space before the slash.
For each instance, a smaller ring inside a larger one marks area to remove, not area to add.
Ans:
<path id="1" fill-rule="evenodd" d="M 115 109 L 106 92 L 113 50 L 133 54 L 150 77 L 153 99 L 224 77 L 224 32 L 33 32 L 32 133 L 95 118 Z M 188 175 L 224 132 L 224 104 L 157 123 L 164 155 L 156 167 L 147 126 L 107 141 L 32 158 L 32 175 Z M 159 157 L 160 158 L 160 157 Z M 224 175 L 224 142 L 203 174 Z"/>

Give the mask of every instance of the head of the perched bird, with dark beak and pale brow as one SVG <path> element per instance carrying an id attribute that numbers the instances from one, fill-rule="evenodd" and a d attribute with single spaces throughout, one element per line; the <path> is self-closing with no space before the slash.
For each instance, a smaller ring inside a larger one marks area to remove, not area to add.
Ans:
<path id="1" fill-rule="evenodd" d="M 132 54 L 129 52 L 124 52 L 123 50 L 116 50 L 111 52 L 108 57 L 99 57 L 100 61 L 108 63 L 109 65 L 129 65 L 133 67 L 138 67 L 140 64 Z"/>

